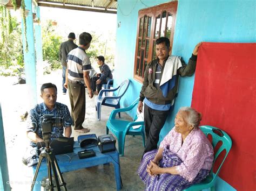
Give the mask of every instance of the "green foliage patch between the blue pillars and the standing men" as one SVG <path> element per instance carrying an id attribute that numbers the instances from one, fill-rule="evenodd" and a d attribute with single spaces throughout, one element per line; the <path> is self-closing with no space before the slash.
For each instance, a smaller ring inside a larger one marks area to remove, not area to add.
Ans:
<path id="1" fill-rule="evenodd" d="M 43 60 L 47 60 L 50 63 L 51 69 L 61 68 L 59 60 L 59 46 L 62 43 L 62 37 L 58 36 L 55 32 L 54 26 L 51 24 L 51 20 L 48 21 L 46 26 L 43 26 Z"/>

